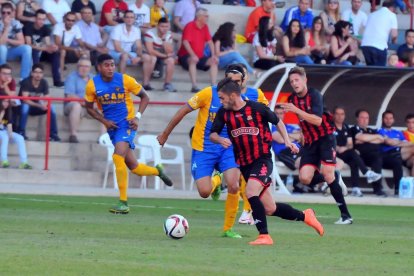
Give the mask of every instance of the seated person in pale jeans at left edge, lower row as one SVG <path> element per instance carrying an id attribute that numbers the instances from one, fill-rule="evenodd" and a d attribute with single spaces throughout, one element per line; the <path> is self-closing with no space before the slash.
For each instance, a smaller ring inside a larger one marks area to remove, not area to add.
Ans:
<path id="1" fill-rule="evenodd" d="M 9 141 L 17 145 L 19 151 L 20 165 L 19 169 L 32 169 L 27 163 L 26 144 L 23 136 L 16 133 L 13 129 L 12 118 L 13 109 L 9 99 L 0 100 L 0 154 L 1 154 L 1 167 L 10 167 L 8 160 Z"/>

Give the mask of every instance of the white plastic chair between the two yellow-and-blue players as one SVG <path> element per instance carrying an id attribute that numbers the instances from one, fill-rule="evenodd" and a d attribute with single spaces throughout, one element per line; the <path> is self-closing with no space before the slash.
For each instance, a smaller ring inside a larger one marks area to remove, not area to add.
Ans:
<path id="1" fill-rule="evenodd" d="M 173 146 L 170 144 L 164 144 L 164 148 L 175 151 L 175 158 L 165 159 L 161 156 L 161 146 L 158 143 L 155 135 L 141 135 L 138 136 L 137 144 L 143 149 L 144 157 L 146 162 L 154 162 L 156 164 L 163 165 L 180 165 L 181 167 L 181 179 L 182 187 L 185 190 L 185 162 L 184 162 L 184 150 L 182 147 Z M 160 178 L 155 178 L 155 189 L 160 189 Z"/>

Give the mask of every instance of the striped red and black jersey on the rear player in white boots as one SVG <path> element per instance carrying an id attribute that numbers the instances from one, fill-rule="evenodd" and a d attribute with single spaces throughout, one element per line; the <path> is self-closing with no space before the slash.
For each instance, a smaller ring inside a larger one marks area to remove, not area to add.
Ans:
<path id="1" fill-rule="evenodd" d="M 303 132 L 305 144 L 311 144 L 325 135 L 334 133 L 335 126 L 332 116 L 330 113 L 325 111 L 323 98 L 318 90 L 309 88 L 304 97 L 299 97 L 296 93 L 292 93 L 292 95 L 289 96 L 288 101 L 293 103 L 300 110 L 322 118 L 320 126 L 313 125 L 299 118 L 299 124 Z"/>

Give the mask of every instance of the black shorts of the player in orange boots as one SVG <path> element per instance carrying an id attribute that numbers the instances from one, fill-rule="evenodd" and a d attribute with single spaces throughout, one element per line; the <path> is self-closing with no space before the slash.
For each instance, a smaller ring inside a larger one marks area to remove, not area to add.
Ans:
<path id="1" fill-rule="evenodd" d="M 247 166 L 240 166 L 240 172 L 242 173 L 246 182 L 249 178 L 254 178 L 259 181 L 263 187 L 267 188 L 272 183 L 273 162 L 270 157 L 262 157 L 253 161 L 253 163 Z"/>

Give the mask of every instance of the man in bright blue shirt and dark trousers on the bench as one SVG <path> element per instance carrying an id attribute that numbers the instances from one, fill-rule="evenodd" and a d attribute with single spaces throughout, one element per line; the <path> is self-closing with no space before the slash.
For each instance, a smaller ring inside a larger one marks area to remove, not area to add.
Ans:
<path id="1" fill-rule="evenodd" d="M 382 166 L 393 171 L 394 194 L 398 195 L 400 180 L 403 176 L 403 161 L 406 164 L 414 162 L 414 145 L 405 139 L 402 131 L 393 128 L 394 113 L 386 110 L 382 113 L 382 127 L 378 133 L 384 136 L 382 150 Z"/>

